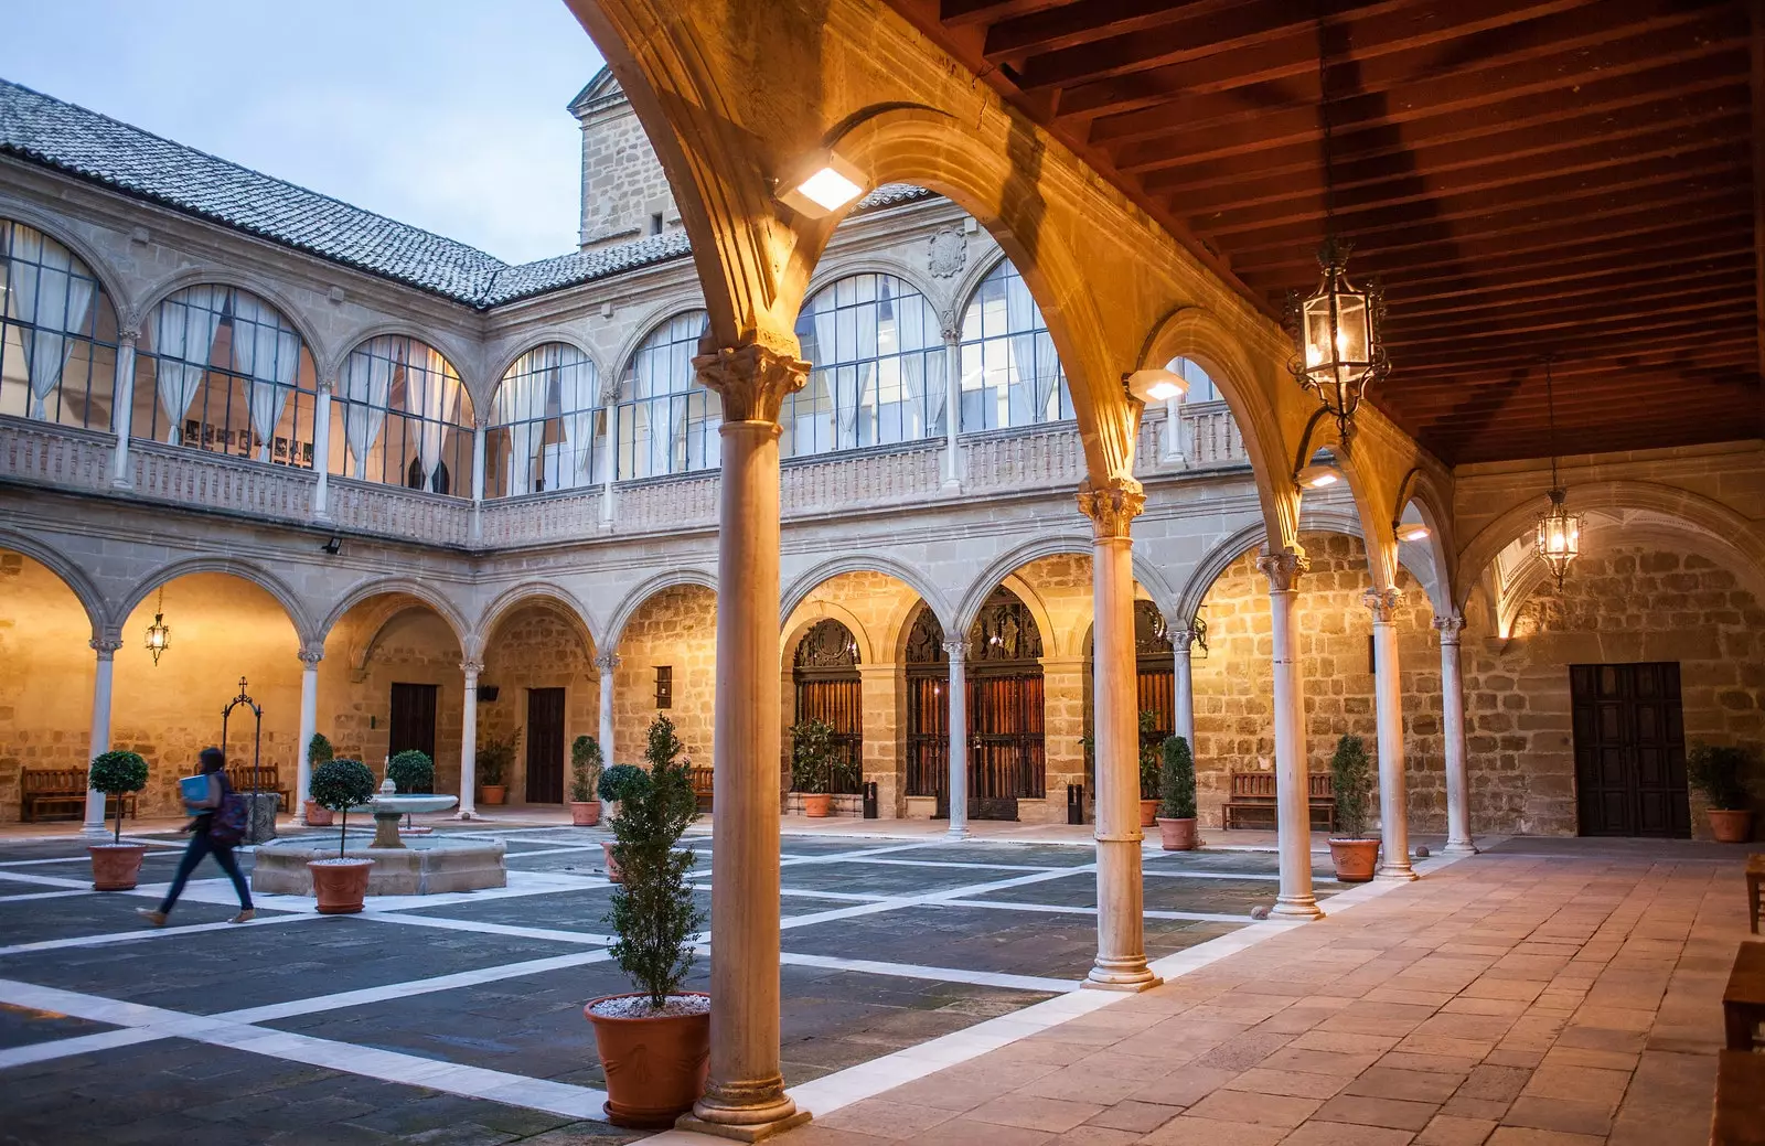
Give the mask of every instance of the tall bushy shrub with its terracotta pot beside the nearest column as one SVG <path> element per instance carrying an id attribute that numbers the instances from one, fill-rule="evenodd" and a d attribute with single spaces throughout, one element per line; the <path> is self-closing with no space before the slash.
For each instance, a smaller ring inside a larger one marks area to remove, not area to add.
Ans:
<path id="1" fill-rule="evenodd" d="M 607 1120 L 616 1127 L 662 1130 L 704 1093 L 711 999 L 680 989 L 692 969 L 694 932 L 704 915 L 694 908 L 687 885 L 694 855 L 676 848 L 699 805 L 667 717 L 650 726 L 646 756 L 650 775 L 625 788 L 612 818 L 612 851 L 625 883 L 612 893 L 605 916 L 616 936 L 612 957 L 639 991 L 591 999 L 582 1014 L 595 1028 L 607 1074 Z"/>

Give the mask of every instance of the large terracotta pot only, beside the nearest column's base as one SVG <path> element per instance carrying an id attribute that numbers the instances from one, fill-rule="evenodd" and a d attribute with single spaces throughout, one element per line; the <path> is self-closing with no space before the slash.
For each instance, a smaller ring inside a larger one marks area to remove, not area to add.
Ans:
<path id="1" fill-rule="evenodd" d="M 695 991 L 683 991 L 704 998 Z M 609 994 L 582 1008 L 595 1028 L 595 1049 L 607 1075 L 602 1107 L 614 1127 L 665 1130 L 704 1093 L 711 1065 L 711 1014 L 612 1017 L 595 1005 L 637 998 Z"/>

